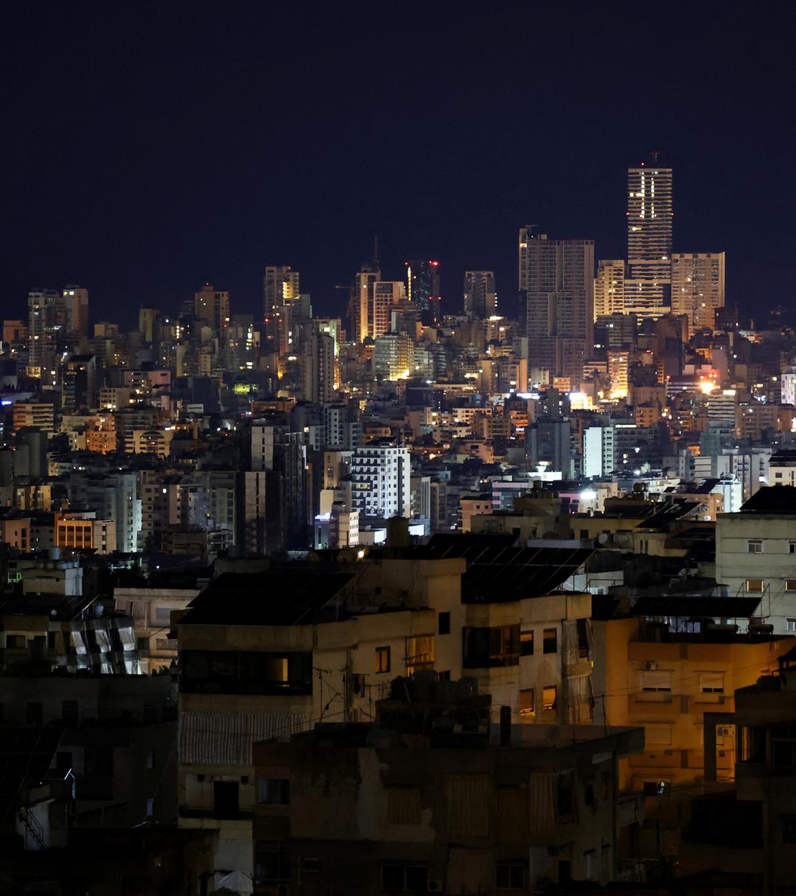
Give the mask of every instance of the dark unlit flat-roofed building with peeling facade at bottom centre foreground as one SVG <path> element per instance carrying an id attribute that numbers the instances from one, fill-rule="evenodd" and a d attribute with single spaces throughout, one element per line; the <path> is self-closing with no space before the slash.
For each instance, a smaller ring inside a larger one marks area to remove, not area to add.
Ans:
<path id="1" fill-rule="evenodd" d="M 398 679 L 378 724 L 255 745 L 255 888 L 464 894 L 612 879 L 638 820 L 617 765 L 640 732 L 499 731 L 476 724 L 483 703 L 466 679 L 422 681 Z M 312 786 L 321 779 L 330 787 Z"/>

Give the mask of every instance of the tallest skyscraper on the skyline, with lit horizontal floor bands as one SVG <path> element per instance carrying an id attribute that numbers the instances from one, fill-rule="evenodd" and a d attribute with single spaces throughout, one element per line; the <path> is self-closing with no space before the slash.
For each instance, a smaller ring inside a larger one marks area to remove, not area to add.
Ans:
<path id="1" fill-rule="evenodd" d="M 628 276 L 625 309 L 660 317 L 671 306 L 672 168 L 628 169 Z"/>

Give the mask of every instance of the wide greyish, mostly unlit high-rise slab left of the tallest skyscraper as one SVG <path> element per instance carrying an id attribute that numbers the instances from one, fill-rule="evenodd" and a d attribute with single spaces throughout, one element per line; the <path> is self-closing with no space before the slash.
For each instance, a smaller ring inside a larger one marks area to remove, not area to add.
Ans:
<path id="1" fill-rule="evenodd" d="M 526 298 L 528 375 L 580 382 L 594 339 L 595 243 L 519 231 L 519 288 Z"/>

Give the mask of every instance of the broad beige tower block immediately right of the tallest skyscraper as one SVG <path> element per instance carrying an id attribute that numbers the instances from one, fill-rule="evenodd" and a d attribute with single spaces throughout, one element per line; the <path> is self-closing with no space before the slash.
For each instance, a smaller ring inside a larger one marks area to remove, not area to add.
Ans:
<path id="1" fill-rule="evenodd" d="M 715 326 L 716 308 L 724 306 L 724 253 L 672 254 L 672 314 L 689 319 L 689 336 Z"/>

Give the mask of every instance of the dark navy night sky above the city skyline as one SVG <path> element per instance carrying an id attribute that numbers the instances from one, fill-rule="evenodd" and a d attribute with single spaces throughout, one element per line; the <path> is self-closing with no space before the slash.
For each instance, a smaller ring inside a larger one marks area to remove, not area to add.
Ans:
<path id="1" fill-rule="evenodd" d="M 728 302 L 793 305 L 792 4 L 5 4 L 0 297 L 90 289 L 95 320 L 266 264 L 340 314 L 441 261 L 517 287 L 518 227 L 625 254 L 625 171 L 674 168 L 674 248 L 728 253 Z"/>

